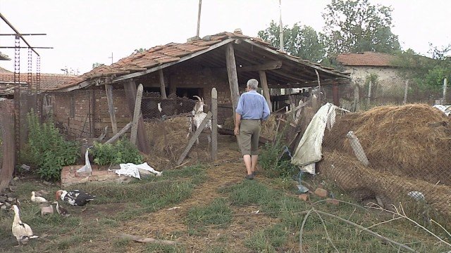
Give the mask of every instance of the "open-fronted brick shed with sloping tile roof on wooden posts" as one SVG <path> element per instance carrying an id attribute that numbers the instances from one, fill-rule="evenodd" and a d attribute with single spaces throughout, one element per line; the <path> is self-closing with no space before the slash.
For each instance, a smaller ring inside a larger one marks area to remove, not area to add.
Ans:
<path id="1" fill-rule="evenodd" d="M 180 113 L 175 107 L 184 103 L 183 97 L 201 96 L 208 106 L 211 89 L 216 88 L 221 122 L 233 114 L 248 79 L 259 80 L 271 104 L 269 89 L 316 86 L 318 77 L 321 85 L 333 86 L 333 100 L 338 103 L 339 87 L 350 82 L 349 75 L 281 53 L 261 39 L 222 32 L 184 44 L 155 46 L 97 67 L 49 89 L 46 104 L 53 105 L 54 119 L 70 134 L 97 137 L 111 122 L 116 122 L 117 129 L 130 122 L 137 84 L 142 84 L 147 94 L 143 115 L 152 112 L 156 117 L 166 110 Z M 140 123 L 138 133 L 142 127 Z"/>

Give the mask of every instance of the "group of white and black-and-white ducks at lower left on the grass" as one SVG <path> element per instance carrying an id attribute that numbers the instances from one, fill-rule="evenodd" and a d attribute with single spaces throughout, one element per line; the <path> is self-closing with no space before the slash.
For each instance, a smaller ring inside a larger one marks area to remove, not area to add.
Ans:
<path id="1" fill-rule="evenodd" d="M 68 210 L 59 205 L 58 199 L 69 205 L 84 206 L 88 202 L 94 200 L 94 198 L 94 195 L 82 192 L 81 190 L 57 190 L 55 193 L 55 201 L 50 204 L 44 197 L 37 196 L 34 191 L 31 192 L 31 201 L 40 205 L 41 215 L 53 214 L 53 204 L 56 204 L 56 212 L 58 212 L 58 214 L 66 217 L 70 216 Z M 33 234 L 32 228 L 27 223 L 23 223 L 22 220 L 20 220 L 20 202 L 17 201 L 16 205 L 12 205 L 11 210 L 14 211 L 14 220 L 11 231 L 13 232 L 14 237 L 16 237 L 18 245 L 25 245 L 30 239 L 39 238 L 39 236 Z"/>

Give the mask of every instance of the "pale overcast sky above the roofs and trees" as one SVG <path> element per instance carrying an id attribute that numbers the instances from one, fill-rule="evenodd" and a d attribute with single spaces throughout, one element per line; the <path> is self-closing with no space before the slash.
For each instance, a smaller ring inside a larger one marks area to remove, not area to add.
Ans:
<path id="1" fill-rule="evenodd" d="M 393 8 L 392 32 L 402 49 L 412 48 L 428 55 L 429 43 L 451 44 L 451 1 L 370 0 Z M 278 0 L 203 0 L 200 37 L 233 32 L 257 37 L 271 20 L 279 20 Z M 330 0 L 282 0 L 283 25 L 295 22 L 323 30 L 323 13 Z M 170 42 L 184 43 L 196 35 L 199 0 L 0 0 L 0 13 L 16 30 L 45 33 L 27 36 L 41 56 L 41 73 L 80 74 L 93 63 L 111 64 L 129 56 L 136 48 L 150 48 Z M 13 33 L 0 20 L 0 34 Z M 0 46 L 14 46 L 13 36 L 0 36 Z M 21 42 L 21 46 L 25 43 Z M 14 58 L 14 50 L 0 48 Z M 32 72 L 36 71 L 33 54 Z M 0 61 L 0 67 L 14 70 L 14 60 Z M 27 72 L 27 49 L 20 51 L 20 72 Z"/>

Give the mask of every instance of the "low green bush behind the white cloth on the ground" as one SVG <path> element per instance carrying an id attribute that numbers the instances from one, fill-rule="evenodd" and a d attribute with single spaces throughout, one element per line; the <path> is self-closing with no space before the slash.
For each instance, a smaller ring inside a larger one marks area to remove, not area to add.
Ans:
<path id="1" fill-rule="evenodd" d="M 134 163 L 142 164 L 144 158 L 140 155 L 135 145 L 126 139 L 117 141 L 114 144 L 94 143 L 91 150 L 94 163 L 99 165 Z"/>

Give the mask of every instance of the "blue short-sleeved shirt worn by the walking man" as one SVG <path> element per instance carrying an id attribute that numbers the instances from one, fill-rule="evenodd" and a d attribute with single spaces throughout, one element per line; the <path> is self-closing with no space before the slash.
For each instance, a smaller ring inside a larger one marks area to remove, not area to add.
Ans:
<path id="1" fill-rule="evenodd" d="M 270 114 L 268 103 L 266 103 L 264 96 L 261 96 L 257 91 L 242 93 L 235 112 L 241 115 L 241 119 L 266 120 Z"/>

